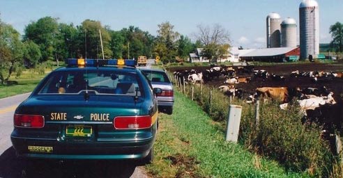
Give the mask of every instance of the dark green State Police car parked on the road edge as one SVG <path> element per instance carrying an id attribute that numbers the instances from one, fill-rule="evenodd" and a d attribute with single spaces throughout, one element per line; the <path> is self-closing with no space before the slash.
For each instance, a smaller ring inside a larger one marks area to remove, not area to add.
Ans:
<path id="1" fill-rule="evenodd" d="M 135 60 L 73 58 L 15 110 L 11 141 L 35 159 L 153 159 L 158 101 Z M 130 67 L 131 65 L 133 67 Z"/>

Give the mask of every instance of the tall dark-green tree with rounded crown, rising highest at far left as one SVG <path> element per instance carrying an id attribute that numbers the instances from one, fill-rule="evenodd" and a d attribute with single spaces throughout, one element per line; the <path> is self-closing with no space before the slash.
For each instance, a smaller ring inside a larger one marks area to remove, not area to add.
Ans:
<path id="1" fill-rule="evenodd" d="M 41 61 L 55 58 L 56 45 L 59 43 L 59 24 L 56 18 L 43 17 L 37 22 L 31 22 L 24 33 L 24 41 L 32 40 L 40 47 Z"/>

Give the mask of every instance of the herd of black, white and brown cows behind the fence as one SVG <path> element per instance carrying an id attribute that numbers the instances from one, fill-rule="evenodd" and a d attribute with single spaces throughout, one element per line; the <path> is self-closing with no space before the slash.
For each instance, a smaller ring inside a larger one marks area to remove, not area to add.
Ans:
<path id="1" fill-rule="evenodd" d="M 326 84 L 343 81 L 342 72 L 308 71 L 296 70 L 289 74 L 273 74 L 267 70 L 254 70 L 253 65 L 243 67 L 211 66 L 202 70 L 177 70 L 174 77 L 185 83 L 211 83 L 220 81 L 218 90 L 222 91 L 231 99 L 246 99 L 253 103 L 257 99 L 272 99 L 280 102 L 280 109 L 287 109 L 289 105 L 298 104 L 300 112 L 303 113 L 308 122 L 323 124 L 324 129 L 343 131 L 343 105 L 342 95 L 333 93 L 326 88 Z M 180 80 L 181 79 L 181 80 Z M 292 81 L 302 80 L 313 83 L 314 86 L 301 88 L 291 85 Z M 254 90 L 245 90 L 245 86 L 255 83 L 258 87 Z M 266 86 L 264 86 L 266 84 Z M 239 87 L 238 87 L 239 86 Z M 334 97 L 335 96 L 335 97 Z M 336 101 L 338 100 L 338 101 Z M 291 103 L 291 104 L 290 104 Z"/>

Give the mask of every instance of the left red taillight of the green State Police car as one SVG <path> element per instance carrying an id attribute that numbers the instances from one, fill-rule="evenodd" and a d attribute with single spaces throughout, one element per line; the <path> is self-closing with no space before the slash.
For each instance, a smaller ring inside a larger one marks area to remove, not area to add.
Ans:
<path id="1" fill-rule="evenodd" d="M 43 115 L 14 115 L 15 127 L 27 127 L 27 128 L 42 128 L 44 127 Z"/>

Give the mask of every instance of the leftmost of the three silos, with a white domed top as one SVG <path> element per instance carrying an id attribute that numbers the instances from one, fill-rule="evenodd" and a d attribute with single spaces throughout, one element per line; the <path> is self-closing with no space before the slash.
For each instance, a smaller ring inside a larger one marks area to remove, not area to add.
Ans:
<path id="1" fill-rule="evenodd" d="M 270 13 L 266 18 L 267 24 L 267 48 L 280 47 L 280 24 L 281 18 L 277 13 Z"/>

